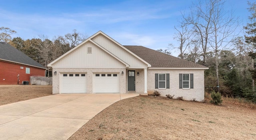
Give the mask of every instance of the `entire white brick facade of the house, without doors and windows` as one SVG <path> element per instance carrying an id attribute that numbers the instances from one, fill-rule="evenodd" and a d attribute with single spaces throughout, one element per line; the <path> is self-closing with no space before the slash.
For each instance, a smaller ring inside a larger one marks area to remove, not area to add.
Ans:
<path id="1" fill-rule="evenodd" d="M 87 75 L 87 93 L 92 93 L 92 74 L 93 72 L 116 72 L 119 73 L 119 89 L 120 93 L 127 92 L 127 72 L 130 69 L 122 68 L 53 68 L 53 72 L 57 74 L 52 78 L 52 93 L 59 94 L 60 73 L 63 72 L 81 72 Z M 136 92 L 144 92 L 144 69 L 131 69 L 135 70 L 135 90 Z M 122 75 L 122 71 L 124 74 Z M 137 76 L 137 72 L 140 73 Z M 169 73 L 170 74 L 170 89 L 155 89 L 155 74 L 156 73 Z M 193 73 L 194 74 L 194 88 L 193 89 L 179 89 L 179 74 L 180 73 Z M 174 95 L 174 98 L 183 97 L 184 100 L 197 101 L 204 100 L 204 70 L 150 70 L 148 69 L 148 93 L 154 90 L 161 92 L 161 96 L 166 97 L 166 94 Z"/>

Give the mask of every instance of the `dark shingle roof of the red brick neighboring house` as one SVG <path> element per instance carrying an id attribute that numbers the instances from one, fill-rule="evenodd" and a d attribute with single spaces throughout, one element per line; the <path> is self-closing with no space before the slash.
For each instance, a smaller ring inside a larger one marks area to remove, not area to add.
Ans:
<path id="1" fill-rule="evenodd" d="M 44 66 L 6 42 L 0 42 L 0 60 L 46 69 Z"/>

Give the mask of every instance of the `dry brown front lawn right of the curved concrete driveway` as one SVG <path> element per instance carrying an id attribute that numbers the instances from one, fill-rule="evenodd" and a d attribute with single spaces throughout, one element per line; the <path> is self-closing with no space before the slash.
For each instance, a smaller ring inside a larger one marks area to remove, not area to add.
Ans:
<path id="1" fill-rule="evenodd" d="M 68 140 L 255 140 L 256 110 L 137 96 L 100 112 Z"/>

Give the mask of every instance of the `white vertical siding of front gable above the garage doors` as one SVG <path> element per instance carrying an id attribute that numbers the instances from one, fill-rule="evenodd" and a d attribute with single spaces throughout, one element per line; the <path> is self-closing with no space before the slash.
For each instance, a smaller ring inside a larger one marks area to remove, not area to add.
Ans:
<path id="1" fill-rule="evenodd" d="M 87 53 L 88 47 L 92 48 L 91 53 Z M 88 42 L 54 64 L 54 68 L 126 68 L 126 66 L 98 46 Z"/>

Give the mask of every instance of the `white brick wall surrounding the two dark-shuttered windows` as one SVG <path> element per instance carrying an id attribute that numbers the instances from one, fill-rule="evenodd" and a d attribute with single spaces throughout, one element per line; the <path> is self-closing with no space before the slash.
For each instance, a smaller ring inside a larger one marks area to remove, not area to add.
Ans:
<path id="1" fill-rule="evenodd" d="M 155 74 L 169 73 L 170 74 L 170 89 L 155 89 Z M 194 88 L 180 89 L 179 74 L 192 73 L 194 74 Z M 160 91 L 161 96 L 166 97 L 166 94 L 174 95 L 174 98 L 183 97 L 184 100 L 197 101 L 204 100 L 204 70 L 150 70 L 148 69 L 148 93 L 154 90 Z"/>

